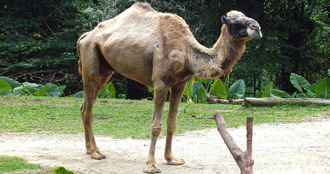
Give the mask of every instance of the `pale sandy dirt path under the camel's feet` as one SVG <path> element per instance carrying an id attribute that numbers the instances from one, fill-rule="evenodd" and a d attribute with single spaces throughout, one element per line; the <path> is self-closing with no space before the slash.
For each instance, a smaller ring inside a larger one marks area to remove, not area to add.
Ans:
<path id="1" fill-rule="evenodd" d="M 255 174 L 330 173 L 330 120 L 253 125 L 252 159 Z M 230 128 L 245 151 L 246 128 Z M 148 133 L 149 134 L 149 133 Z M 85 154 L 84 135 L 0 134 L 0 155 L 24 157 L 29 162 L 65 166 L 86 174 L 144 173 L 149 140 L 96 136 L 103 160 Z M 173 153 L 185 164 L 171 166 L 164 159 L 165 138 L 157 140 L 155 158 L 164 174 L 239 174 L 239 167 L 216 129 L 175 136 Z"/>

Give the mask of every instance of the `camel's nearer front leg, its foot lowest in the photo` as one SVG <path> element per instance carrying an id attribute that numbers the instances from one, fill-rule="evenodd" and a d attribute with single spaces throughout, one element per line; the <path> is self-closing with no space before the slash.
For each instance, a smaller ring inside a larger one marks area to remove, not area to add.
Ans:
<path id="1" fill-rule="evenodd" d="M 146 173 L 161 173 L 161 169 L 157 166 L 155 160 L 155 148 L 157 138 L 162 130 L 163 109 L 168 92 L 168 87 L 164 87 L 164 83 L 160 82 L 154 85 L 155 92 L 153 97 L 153 113 L 151 119 L 151 140 L 150 149 L 145 168 Z"/>

